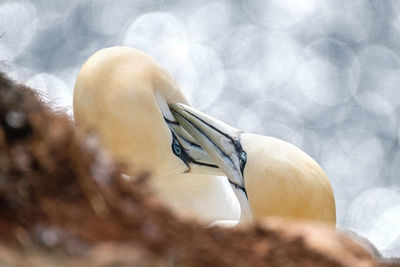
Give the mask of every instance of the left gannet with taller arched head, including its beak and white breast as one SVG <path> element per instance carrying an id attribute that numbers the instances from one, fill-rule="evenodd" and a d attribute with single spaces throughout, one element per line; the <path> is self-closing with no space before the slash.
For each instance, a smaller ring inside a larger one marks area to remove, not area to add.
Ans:
<path id="1" fill-rule="evenodd" d="M 97 136 L 128 173 L 150 170 L 150 187 L 173 211 L 209 224 L 238 219 L 239 204 L 209 155 L 176 122 L 169 103 L 190 105 L 174 78 L 146 53 L 104 48 L 76 79 L 76 128 Z"/>

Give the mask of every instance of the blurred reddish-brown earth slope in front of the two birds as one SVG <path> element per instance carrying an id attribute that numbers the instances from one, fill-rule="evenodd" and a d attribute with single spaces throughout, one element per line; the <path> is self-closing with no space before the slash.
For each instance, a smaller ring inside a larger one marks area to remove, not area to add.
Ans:
<path id="1" fill-rule="evenodd" d="M 323 225 L 209 228 L 0 74 L 0 266 L 400 266 Z"/>

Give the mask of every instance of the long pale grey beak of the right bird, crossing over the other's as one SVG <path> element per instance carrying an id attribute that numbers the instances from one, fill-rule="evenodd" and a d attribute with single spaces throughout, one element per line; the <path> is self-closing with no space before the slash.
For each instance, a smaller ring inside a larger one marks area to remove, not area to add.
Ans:
<path id="1" fill-rule="evenodd" d="M 247 155 L 240 144 L 241 131 L 184 104 L 169 104 L 175 119 L 210 155 L 235 188 L 244 188 Z"/>

